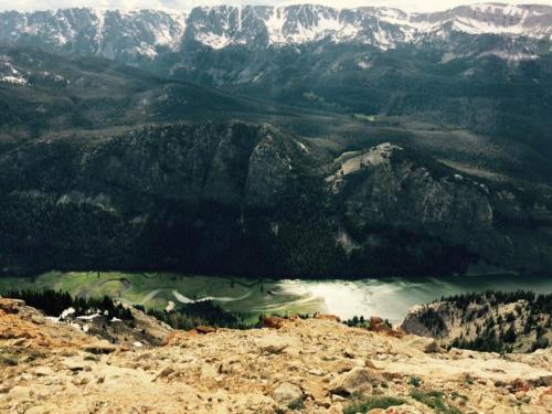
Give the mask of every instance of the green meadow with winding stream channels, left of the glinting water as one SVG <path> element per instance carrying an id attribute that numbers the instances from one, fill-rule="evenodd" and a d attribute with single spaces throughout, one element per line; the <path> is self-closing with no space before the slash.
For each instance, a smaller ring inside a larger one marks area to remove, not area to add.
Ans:
<path id="1" fill-rule="evenodd" d="M 258 315 L 314 314 L 323 301 L 288 294 L 278 280 L 252 280 L 216 276 L 183 276 L 172 273 L 49 272 L 36 277 L 0 278 L 0 294 L 10 289 L 55 289 L 75 297 L 110 296 L 114 299 L 163 309 L 210 299 L 229 311 Z"/>

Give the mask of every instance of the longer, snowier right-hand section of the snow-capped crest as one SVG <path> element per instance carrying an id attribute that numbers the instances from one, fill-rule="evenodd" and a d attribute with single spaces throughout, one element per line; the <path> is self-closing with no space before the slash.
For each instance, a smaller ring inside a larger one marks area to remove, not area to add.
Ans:
<path id="1" fill-rule="evenodd" d="M 190 14 L 187 35 L 214 49 L 253 42 L 307 43 L 327 38 L 388 49 L 452 32 L 550 39 L 552 7 L 477 4 L 439 13 L 323 6 L 198 8 Z"/>

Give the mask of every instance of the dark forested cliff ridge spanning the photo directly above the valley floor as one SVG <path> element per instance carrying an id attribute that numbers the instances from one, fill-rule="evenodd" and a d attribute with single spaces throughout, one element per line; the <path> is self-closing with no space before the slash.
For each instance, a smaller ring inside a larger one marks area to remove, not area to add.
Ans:
<path id="1" fill-rule="evenodd" d="M 475 179 L 391 144 L 333 159 L 269 125 L 31 140 L 0 153 L 0 183 L 6 273 L 361 277 L 474 264 L 542 272 L 552 259 L 545 192 Z"/>

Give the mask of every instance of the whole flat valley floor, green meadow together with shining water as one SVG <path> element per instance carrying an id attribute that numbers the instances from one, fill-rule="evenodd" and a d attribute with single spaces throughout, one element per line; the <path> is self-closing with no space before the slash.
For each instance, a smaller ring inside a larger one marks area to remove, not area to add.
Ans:
<path id="1" fill-rule="evenodd" d="M 291 315 L 315 311 L 353 316 L 381 316 L 396 323 L 414 305 L 488 289 L 552 293 L 552 276 L 391 277 L 363 280 L 252 280 L 168 273 L 49 272 L 34 278 L 2 277 L 0 293 L 19 288 L 70 291 L 74 296 L 109 295 L 128 304 L 166 308 L 171 301 L 212 300 L 221 307 L 248 315 Z"/>

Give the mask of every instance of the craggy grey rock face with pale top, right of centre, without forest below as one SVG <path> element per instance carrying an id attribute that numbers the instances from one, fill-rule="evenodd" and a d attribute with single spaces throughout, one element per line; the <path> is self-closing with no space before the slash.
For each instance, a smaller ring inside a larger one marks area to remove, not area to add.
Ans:
<path id="1" fill-rule="evenodd" d="M 420 226 L 455 242 L 491 226 L 492 208 L 484 187 L 416 157 L 382 144 L 343 162 L 332 185 L 344 198 L 344 215 L 359 227 Z"/>

